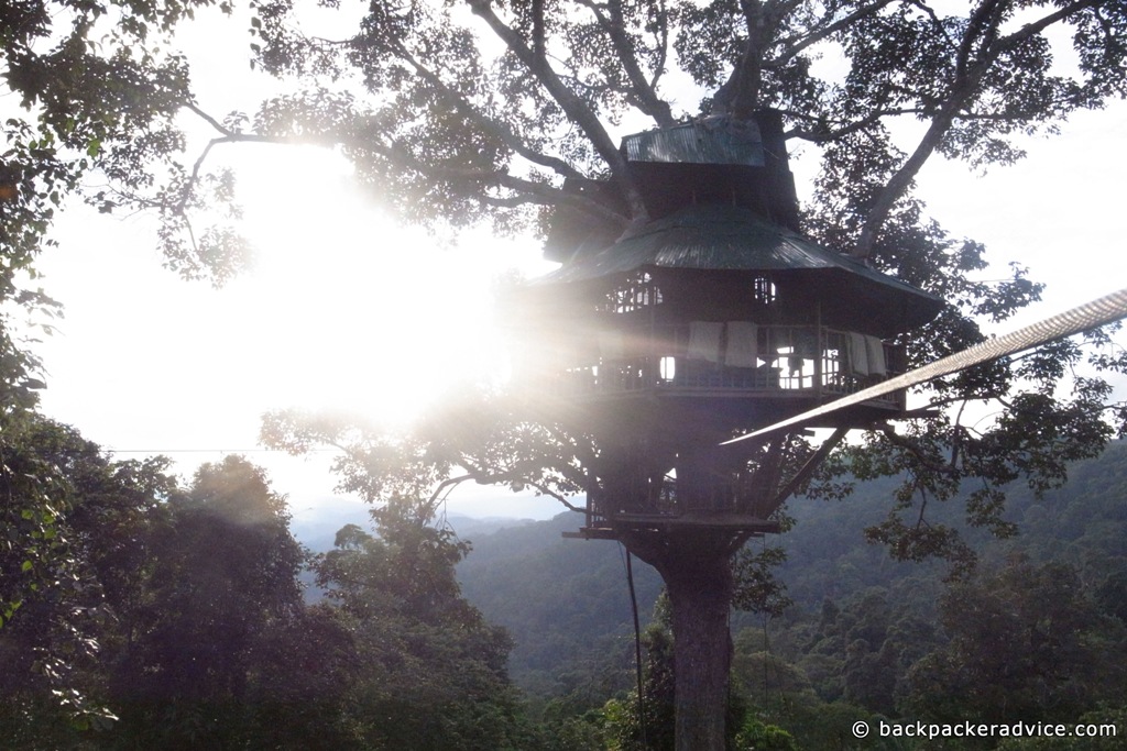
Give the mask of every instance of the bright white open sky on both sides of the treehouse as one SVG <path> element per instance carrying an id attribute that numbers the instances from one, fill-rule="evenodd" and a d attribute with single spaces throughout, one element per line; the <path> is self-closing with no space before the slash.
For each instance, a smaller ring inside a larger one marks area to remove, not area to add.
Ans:
<path id="1" fill-rule="evenodd" d="M 213 111 L 236 106 L 221 100 Z M 999 276 L 1014 260 L 1050 284 L 1021 324 L 1127 279 L 1127 106 L 1077 115 L 1063 129 L 1032 142 L 1015 167 L 980 177 L 935 160 L 920 178 L 931 213 L 952 234 L 985 242 Z M 539 248 L 481 233 L 437 250 L 356 195 L 331 152 L 228 149 L 216 155 L 240 168 L 258 260 L 224 289 L 163 270 L 150 220 L 77 209 L 60 223 L 60 247 L 41 262 L 44 287 L 66 306 L 61 332 L 38 348 L 44 411 L 123 457 L 167 453 L 185 474 L 247 453 L 295 508 L 316 506 L 332 494 L 328 456 L 261 452 L 261 413 L 358 409 L 405 419 L 467 373 L 495 373 L 494 276 L 542 269 Z M 808 195 L 801 164 L 796 172 Z M 547 518 L 562 509 L 473 486 L 449 510 Z"/>

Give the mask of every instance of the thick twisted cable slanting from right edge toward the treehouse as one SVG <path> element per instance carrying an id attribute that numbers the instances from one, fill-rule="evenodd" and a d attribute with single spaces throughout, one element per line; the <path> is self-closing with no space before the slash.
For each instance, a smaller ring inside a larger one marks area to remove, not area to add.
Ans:
<path id="1" fill-rule="evenodd" d="M 959 370 L 964 370 L 975 365 L 990 363 L 1008 355 L 1032 349 L 1033 347 L 1039 347 L 1040 345 L 1055 339 L 1071 337 L 1075 333 L 1080 333 L 1081 331 L 1088 331 L 1089 329 L 1094 329 L 1106 323 L 1112 323 L 1122 318 L 1127 318 L 1127 288 L 1113 292 L 1110 295 L 1104 295 L 1103 297 L 1093 299 L 1090 303 L 1085 303 L 1072 310 L 1065 311 L 1064 313 L 1047 318 L 1044 321 L 1038 321 L 1031 325 L 1018 329 L 1017 331 L 1008 333 L 1003 337 L 997 337 L 995 339 L 984 341 L 980 345 L 975 345 L 974 347 L 965 349 L 961 352 L 949 355 L 948 357 L 935 360 L 934 363 L 919 367 L 915 370 L 909 370 L 908 373 L 889 378 L 888 381 L 879 383 L 876 386 L 870 386 L 869 388 L 864 388 L 848 396 L 834 400 L 828 404 L 823 404 L 822 406 L 802 412 L 801 414 L 796 414 L 795 417 L 783 420 L 782 422 L 777 422 L 766 428 L 761 428 L 760 430 L 738 436 L 731 440 L 726 440 L 720 445 L 727 446 L 728 444 L 735 444 L 740 440 L 758 438 L 767 433 L 778 432 L 784 428 L 805 424 L 815 418 L 820 418 L 846 406 L 853 406 L 854 404 L 860 404 L 861 402 L 867 402 L 871 399 L 877 399 L 878 396 L 900 391 L 902 388 L 917 386 L 922 383 L 926 383 L 928 381 L 932 381 L 933 378 L 958 373 Z"/>

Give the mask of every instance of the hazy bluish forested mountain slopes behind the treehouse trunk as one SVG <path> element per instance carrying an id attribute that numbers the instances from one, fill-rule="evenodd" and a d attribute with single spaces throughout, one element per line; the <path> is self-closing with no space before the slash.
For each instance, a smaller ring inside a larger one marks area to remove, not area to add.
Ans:
<path id="1" fill-rule="evenodd" d="M 1070 477 L 1040 499 L 1020 484 L 1009 489 L 1008 517 L 1021 526 L 1012 539 L 967 528 L 958 500 L 939 504 L 933 519 L 961 528 L 985 564 L 1021 553 L 1035 561 L 1066 560 L 1093 575 L 1127 565 L 1127 442 L 1076 463 Z M 863 529 L 887 517 L 897 484 L 896 479 L 861 483 L 851 498 L 835 502 L 793 499 L 788 511 L 795 528 L 749 543 L 787 549 L 779 578 L 796 608 L 809 611 L 827 598 L 845 600 L 871 587 L 914 600 L 938 597 L 947 571 L 941 562 L 896 562 L 884 547 L 864 542 Z M 562 513 L 492 533 L 464 533 L 473 551 L 459 565 L 462 590 L 489 620 L 509 631 L 513 678 L 541 696 L 559 696 L 584 681 L 613 683 L 631 664 L 623 551 L 612 542 L 561 537 L 582 520 Z M 640 562 L 635 573 L 645 624 L 662 582 Z M 762 619 L 734 618 L 737 631 L 752 624 L 762 627 Z"/>

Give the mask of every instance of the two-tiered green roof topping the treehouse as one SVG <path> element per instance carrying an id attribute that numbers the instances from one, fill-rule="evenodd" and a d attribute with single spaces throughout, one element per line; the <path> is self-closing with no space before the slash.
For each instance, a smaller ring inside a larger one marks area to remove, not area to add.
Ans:
<path id="1" fill-rule="evenodd" d="M 542 284 L 587 286 L 660 269 L 763 272 L 800 284 L 802 297 L 818 301 L 831 318 L 864 316 L 881 336 L 926 323 L 943 306 L 798 232 L 793 177 L 773 110 L 752 122 L 706 118 L 629 135 L 621 151 L 651 221 L 621 235 L 578 209 L 558 211 L 545 257 L 562 266 Z M 621 205 L 612 182 L 571 189 Z"/>

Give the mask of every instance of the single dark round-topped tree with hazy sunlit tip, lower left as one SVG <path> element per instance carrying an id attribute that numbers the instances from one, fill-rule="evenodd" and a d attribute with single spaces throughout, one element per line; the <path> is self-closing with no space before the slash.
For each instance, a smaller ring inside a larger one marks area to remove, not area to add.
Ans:
<path id="1" fill-rule="evenodd" d="M 285 499 L 241 457 L 202 465 L 167 510 L 114 674 L 118 732 L 163 748 L 232 744 L 246 728 L 257 642 L 300 607 L 302 551 Z"/>

